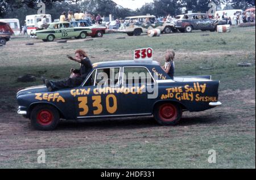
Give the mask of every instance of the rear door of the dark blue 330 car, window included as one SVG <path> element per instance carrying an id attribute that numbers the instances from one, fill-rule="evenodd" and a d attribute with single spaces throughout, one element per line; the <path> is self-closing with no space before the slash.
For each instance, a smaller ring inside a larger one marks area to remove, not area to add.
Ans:
<path id="1" fill-rule="evenodd" d="M 122 71 L 122 114 L 151 114 L 154 99 L 147 92 L 155 82 L 151 73 L 143 66 L 123 67 Z"/>

